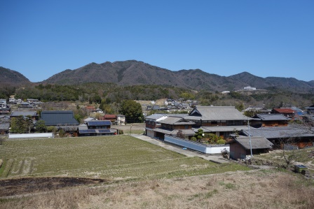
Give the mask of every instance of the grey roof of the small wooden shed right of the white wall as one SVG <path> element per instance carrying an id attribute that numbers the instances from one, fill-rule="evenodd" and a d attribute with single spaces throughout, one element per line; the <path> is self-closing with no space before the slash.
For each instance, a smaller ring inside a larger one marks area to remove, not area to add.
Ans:
<path id="1" fill-rule="evenodd" d="M 229 141 L 227 144 L 231 143 L 239 143 L 242 147 L 245 148 L 245 150 L 250 150 L 252 146 L 252 150 L 257 149 L 271 149 L 273 146 L 273 143 L 271 143 L 269 140 L 267 140 L 264 137 L 257 137 L 251 136 L 251 145 L 250 145 L 250 137 L 247 136 L 239 136 L 231 141 Z"/>

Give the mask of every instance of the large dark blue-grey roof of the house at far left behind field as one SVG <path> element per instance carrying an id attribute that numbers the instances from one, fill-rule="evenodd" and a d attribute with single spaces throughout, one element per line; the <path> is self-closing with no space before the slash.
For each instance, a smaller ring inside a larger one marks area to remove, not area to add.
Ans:
<path id="1" fill-rule="evenodd" d="M 78 125 L 73 111 L 42 111 L 41 120 L 45 121 L 46 126 Z"/>

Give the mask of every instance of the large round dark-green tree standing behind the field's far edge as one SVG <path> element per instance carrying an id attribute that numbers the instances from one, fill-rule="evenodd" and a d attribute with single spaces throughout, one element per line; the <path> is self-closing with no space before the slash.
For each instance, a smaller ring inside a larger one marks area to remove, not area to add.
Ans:
<path id="1" fill-rule="evenodd" d="M 121 114 L 125 115 L 125 120 L 128 123 L 143 122 L 144 120 L 142 106 L 134 100 L 123 100 L 120 111 Z"/>

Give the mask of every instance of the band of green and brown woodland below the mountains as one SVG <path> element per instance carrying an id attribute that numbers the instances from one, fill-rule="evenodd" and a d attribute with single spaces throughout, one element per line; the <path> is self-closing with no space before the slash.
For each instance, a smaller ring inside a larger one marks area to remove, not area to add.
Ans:
<path id="1" fill-rule="evenodd" d="M 243 91 L 221 94 L 207 90 L 193 91 L 179 87 L 162 85 L 121 86 L 114 83 L 86 83 L 81 85 L 35 85 L 12 89 L 8 94 L 15 98 L 39 99 L 46 101 L 76 101 L 100 105 L 107 113 L 118 113 L 119 103 L 124 99 L 155 101 L 158 99 L 197 100 L 201 105 L 208 106 L 264 106 L 280 108 L 281 106 L 297 106 L 306 108 L 313 105 L 314 94 L 309 92 L 291 92 L 285 89 L 269 87 L 263 92 Z M 6 96 L 8 96 L 6 94 Z M 5 98 L 5 97 L 4 97 Z M 7 97 L 8 98 L 8 97 Z"/>

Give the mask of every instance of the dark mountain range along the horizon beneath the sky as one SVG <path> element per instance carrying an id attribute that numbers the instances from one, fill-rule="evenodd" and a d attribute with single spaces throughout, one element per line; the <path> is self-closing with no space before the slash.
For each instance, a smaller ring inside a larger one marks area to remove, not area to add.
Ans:
<path id="1" fill-rule="evenodd" d="M 24 75 L 0 67 L 0 82 L 29 83 Z M 231 76 L 206 73 L 200 69 L 170 71 L 136 60 L 123 62 L 90 63 L 75 70 L 57 73 L 42 84 L 76 85 L 86 82 L 114 82 L 118 85 L 168 85 L 210 91 L 234 91 L 251 86 L 257 89 L 275 87 L 290 91 L 314 92 L 314 80 L 306 82 L 296 78 L 261 78 L 247 72 Z"/>

